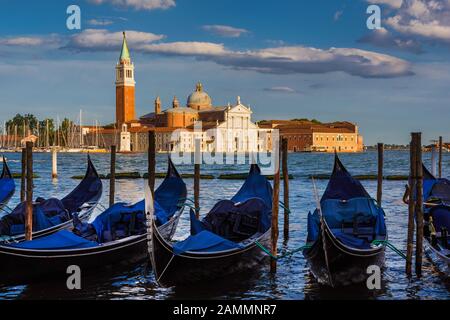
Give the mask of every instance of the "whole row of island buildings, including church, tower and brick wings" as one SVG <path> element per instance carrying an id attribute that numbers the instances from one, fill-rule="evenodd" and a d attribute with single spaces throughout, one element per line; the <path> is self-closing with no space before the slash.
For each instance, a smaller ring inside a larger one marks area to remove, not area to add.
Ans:
<path id="1" fill-rule="evenodd" d="M 138 118 L 135 84 L 134 64 L 124 33 L 116 64 L 115 128 L 90 128 L 85 132 L 87 141 L 98 141 L 100 135 L 105 147 L 117 144 L 122 152 L 140 152 L 148 148 L 148 132 L 152 130 L 160 152 L 192 152 L 196 140 L 200 140 L 202 151 L 262 152 L 272 149 L 279 134 L 288 139 L 289 150 L 293 152 L 363 150 L 362 136 L 355 124 L 283 120 L 255 123 L 252 109 L 240 97 L 234 104 L 214 106 L 201 83 L 197 83 L 185 105 L 174 97 L 172 104 L 163 108 L 157 97 L 154 110 Z"/>

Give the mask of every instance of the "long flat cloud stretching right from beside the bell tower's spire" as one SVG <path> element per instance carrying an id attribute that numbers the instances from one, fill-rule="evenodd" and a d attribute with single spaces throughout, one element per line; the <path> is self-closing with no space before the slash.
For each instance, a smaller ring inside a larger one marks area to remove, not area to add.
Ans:
<path id="1" fill-rule="evenodd" d="M 144 45 L 144 53 L 191 56 L 238 70 L 260 73 L 295 74 L 341 71 L 365 78 L 411 75 L 410 64 L 393 56 L 353 48 L 328 50 L 291 46 L 261 50 L 232 51 L 222 44 L 175 42 Z"/>

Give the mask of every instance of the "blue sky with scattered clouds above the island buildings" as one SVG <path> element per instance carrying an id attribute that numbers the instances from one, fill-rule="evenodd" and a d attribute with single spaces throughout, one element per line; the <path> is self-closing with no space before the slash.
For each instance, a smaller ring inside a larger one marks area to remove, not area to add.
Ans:
<path id="1" fill-rule="evenodd" d="M 367 145 L 450 140 L 450 0 L 0 0 L 0 121 L 114 122 L 122 31 L 136 112 L 183 103 L 203 83 L 214 105 L 253 120 L 357 123 Z M 69 30 L 78 5 L 81 29 Z M 370 30 L 368 6 L 381 9 Z"/>

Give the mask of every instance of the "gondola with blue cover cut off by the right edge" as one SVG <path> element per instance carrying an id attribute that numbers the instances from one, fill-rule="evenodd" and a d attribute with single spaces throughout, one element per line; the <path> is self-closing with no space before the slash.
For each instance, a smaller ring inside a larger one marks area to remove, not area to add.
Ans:
<path id="1" fill-rule="evenodd" d="M 431 258 L 450 274 L 450 181 L 423 166 L 424 238 Z"/>

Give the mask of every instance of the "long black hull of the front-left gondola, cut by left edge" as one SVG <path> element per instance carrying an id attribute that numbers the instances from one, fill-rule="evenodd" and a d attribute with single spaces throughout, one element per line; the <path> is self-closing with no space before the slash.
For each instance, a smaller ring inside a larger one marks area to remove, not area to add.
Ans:
<path id="1" fill-rule="evenodd" d="M 160 227 L 167 239 L 173 237 L 181 212 Z M 0 284 L 26 284 L 45 278 L 67 278 L 67 268 L 80 267 L 82 275 L 102 269 L 117 269 L 148 258 L 147 234 L 105 245 L 76 250 L 29 250 L 0 246 Z"/>

